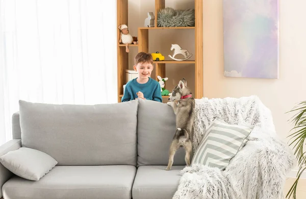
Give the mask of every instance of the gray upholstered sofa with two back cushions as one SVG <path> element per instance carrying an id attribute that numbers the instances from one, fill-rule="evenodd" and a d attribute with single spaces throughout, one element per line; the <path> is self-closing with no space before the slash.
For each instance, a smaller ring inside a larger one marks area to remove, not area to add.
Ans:
<path id="1" fill-rule="evenodd" d="M 39 181 L 0 164 L 1 196 L 13 198 L 172 198 L 185 167 L 181 148 L 166 171 L 175 115 L 166 104 L 134 100 L 107 105 L 19 101 L 13 140 L 0 156 L 29 147 L 58 164 Z M 1 198 L 1 197 L 0 197 Z"/>

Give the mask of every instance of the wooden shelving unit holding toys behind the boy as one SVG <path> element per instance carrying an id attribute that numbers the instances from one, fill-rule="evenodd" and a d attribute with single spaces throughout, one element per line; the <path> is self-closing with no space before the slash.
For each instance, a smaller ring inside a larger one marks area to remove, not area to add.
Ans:
<path id="1" fill-rule="evenodd" d="M 151 0 L 154 1 L 154 0 Z M 127 13 L 128 13 L 128 0 L 117 0 L 117 27 L 121 24 L 126 24 L 129 26 Z M 194 64 L 195 74 L 195 93 L 193 93 L 195 98 L 203 97 L 203 2 L 202 0 L 194 0 L 195 8 L 195 27 L 157 27 L 157 13 L 160 9 L 165 8 L 165 0 L 155 0 L 155 27 L 139 27 L 138 28 L 138 44 L 131 44 L 129 47 L 138 47 L 138 52 L 149 53 L 149 30 L 157 29 L 194 29 L 195 31 L 195 60 L 186 60 L 186 61 L 154 61 L 156 77 L 157 76 L 166 77 L 166 64 Z M 119 40 L 119 32 L 117 33 L 117 41 Z M 118 102 L 121 102 L 121 97 L 123 96 L 123 84 L 125 83 L 125 69 L 129 69 L 129 56 L 125 52 L 125 45 L 119 44 L 117 47 L 117 77 L 118 77 Z M 153 78 L 153 77 L 152 77 Z M 163 98 L 168 98 L 169 96 L 163 96 Z"/>

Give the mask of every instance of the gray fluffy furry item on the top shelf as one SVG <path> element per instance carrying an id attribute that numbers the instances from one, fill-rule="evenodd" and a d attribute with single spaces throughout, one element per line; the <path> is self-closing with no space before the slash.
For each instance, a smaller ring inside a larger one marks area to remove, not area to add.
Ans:
<path id="1" fill-rule="evenodd" d="M 158 27 L 194 27 L 194 9 L 164 8 L 157 13 Z"/>

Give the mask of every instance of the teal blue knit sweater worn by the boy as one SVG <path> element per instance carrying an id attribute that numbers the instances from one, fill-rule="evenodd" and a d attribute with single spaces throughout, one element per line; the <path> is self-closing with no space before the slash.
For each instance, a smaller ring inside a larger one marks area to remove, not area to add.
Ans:
<path id="1" fill-rule="evenodd" d="M 136 81 L 137 78 L 127 82 L 124 89 L 121 102 L 127 102 L 138 98 L 137 92 L 141 91 L 145 99 L 154 100 L 157 102 L 163 102 L 162 92 L 160 84 L 151 78 L 145 84 L 139 84 Z"/>

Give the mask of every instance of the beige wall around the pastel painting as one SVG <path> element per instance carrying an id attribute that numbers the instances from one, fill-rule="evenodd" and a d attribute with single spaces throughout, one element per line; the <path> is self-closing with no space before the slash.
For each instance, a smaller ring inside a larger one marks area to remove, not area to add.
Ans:
<path id="1" fill-rule="evenodd" d="M 306 100 L 306 1 L 279 0 L 279 79 L 223 77 L 222 0 L 203 1 L 203 73 L 207 97 L 258 95 L 285 139 L 291 110 Z M 292 114 L 291 114 L 292 115 Z"/>

